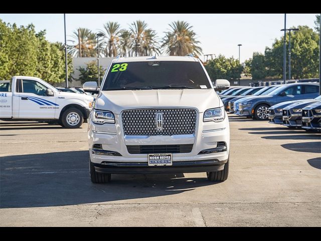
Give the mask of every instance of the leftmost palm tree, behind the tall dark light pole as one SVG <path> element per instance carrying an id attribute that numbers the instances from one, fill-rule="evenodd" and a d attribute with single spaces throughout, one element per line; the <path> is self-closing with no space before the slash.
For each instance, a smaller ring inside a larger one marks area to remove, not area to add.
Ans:
<path id="1" fill-rule="evenodd" d="M 79 35 L 78 35 L 79 32 Z M 91 30 L 79 28 L 74 30 L 72 35 L 74 40 L 68 40 L 72 44 L 68 46 L 69 53 L 74 57 L 96 57 L 96 35 Z M 79 38 L 78 38 L 79 37 Z M 80 41 L 79 41 L 80 40 Z M 80 42 L 80 43 L 79 43 Z M 79 51 L 80 45 L 80 51 Z"/>

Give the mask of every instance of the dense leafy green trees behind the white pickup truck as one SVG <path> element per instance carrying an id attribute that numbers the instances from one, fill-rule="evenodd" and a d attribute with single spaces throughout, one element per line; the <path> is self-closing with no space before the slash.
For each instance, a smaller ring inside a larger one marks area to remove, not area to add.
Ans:
<path id="1" fill-rule="evenodd" d="M 64 50 L 45 35 L 46 31 L 36 33 L 33 25 L 18 28 L 0 20 L 0 79 L 29 75 L 51 84 L 65 81 Z M 72 70 L 71 58 L 68 65 Z"/>

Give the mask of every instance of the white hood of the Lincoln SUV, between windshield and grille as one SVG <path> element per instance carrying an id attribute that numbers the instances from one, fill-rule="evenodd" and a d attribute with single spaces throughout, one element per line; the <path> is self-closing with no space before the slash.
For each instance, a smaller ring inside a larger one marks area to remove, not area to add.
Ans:
<path id="1" fill-rule="evenodd" d="M 223 103 L 214 89 L 108 90 L 99 92 L 94 108 L 119 114 L 124 109 L 171 106 L 204 112 Z"/>

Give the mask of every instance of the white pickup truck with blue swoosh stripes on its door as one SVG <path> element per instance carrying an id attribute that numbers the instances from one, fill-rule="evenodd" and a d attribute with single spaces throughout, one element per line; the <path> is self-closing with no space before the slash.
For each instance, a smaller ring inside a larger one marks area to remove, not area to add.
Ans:
<path id="1" fill-rule="evenodd" d="M 92 109 L 94 98 L 86 94 L 60 92 L 44 80 L 14 76 L 0 92 L 3 121 L 54 121 L 65 128 L 79 128 Z"/>

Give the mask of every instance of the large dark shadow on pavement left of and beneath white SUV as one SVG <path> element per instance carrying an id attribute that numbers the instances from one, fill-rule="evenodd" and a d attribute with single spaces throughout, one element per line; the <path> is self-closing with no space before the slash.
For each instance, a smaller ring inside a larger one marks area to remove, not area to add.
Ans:
<path id="1" fill-rule="evenodd" d="M 112 175 L 93 184 L 88 151 L 1 157 L 0 207 L 42 207 L 128 200 L 178 194 L 213 185 L 183 174 Z M 177 178 L 180 177 L 180 178 Z"/>

